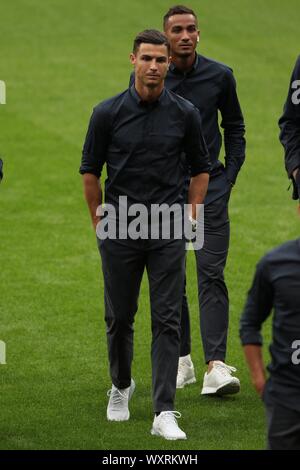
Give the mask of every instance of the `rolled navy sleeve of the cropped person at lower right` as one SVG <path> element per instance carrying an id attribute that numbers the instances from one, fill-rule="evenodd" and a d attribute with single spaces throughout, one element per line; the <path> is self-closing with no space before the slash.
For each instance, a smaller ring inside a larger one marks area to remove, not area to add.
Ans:
<path id="1" fill-rule="evenodd" d="M 256 266 L 240 321 L 240 338 L 243 345 L 262 345 L 261 326 L 272 311 L 274 297 L 268 270 L 267 257 L 264 257 Z"/>

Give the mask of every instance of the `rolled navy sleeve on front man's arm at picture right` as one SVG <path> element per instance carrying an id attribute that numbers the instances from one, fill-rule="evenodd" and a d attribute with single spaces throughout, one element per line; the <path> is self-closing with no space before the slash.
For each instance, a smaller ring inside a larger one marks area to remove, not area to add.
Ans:
<path id="1" fill-rule="evenodd" d="M 195 106 L 187 114 L 184 147 L 191 176 L 209 173 L 209 153 L 203 137 L 200 113 Z"/>

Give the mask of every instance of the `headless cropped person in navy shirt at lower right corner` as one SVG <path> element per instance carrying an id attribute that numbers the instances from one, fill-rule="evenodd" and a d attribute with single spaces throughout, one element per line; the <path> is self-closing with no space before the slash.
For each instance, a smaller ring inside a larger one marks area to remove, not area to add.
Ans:
<path id="1" fill-rule="evenodd" d="M 266 381 L 260 330 L 272 309 L 272 360 Z M 258 263 L 240 336 L 253 384 L 266 406 L 268 448 L 300 450 L 300 238 Z"/>

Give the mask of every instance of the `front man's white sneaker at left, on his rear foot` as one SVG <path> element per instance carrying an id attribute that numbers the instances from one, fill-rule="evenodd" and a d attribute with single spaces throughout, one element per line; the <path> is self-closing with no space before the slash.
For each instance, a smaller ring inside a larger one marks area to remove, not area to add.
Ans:
<path id="1" fill-rule="evenodd" d="M 128 388 L 119 389 L 112 385 L 111 390 L 107 392 L 109 402 L 107 406 L 108 421 L 127 421 L 130 413 L 128 402 L 135 389 L 134 380 L 131 379 L 131 385 Z"/>

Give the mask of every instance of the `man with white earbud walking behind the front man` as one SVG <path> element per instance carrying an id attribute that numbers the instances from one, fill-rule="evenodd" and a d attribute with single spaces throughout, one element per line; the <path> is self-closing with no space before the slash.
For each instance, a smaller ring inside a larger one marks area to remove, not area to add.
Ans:
<path id="1" fill-rule="evenodd" d="M 236 393 L 239 380 L 225 362 L 228 330 L 228 292 L 224 269 L 229 247 L 228 201 L 245 159 L 244 120 L 232 70 L 196 53 L 199 41 L 197 17 L 189 8 L 176 6 L 164 17 L 164 30 L 171 46 L 172 63 L 166 87 L 191 101 L 200 111 L 212 170 L 204 211 L 204 246 L 195 250 L 198 274 L 200 328 L 208 373 L 202 394 Z M 219 160 L 224 129 L 225 168 Z M 190 358 L 190 323 L 183 297 L 181 352 L 177 387 L 195 382 Z"/>

